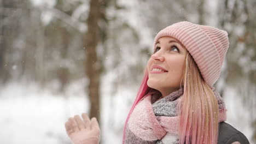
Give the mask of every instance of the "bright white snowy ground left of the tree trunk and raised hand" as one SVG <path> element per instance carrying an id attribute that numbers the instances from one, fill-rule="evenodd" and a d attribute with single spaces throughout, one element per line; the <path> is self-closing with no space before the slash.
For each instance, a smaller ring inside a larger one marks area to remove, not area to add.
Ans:
<path id="1" fill-rule="evenodd" d="M 88 101 L 87 101 L 88 102 Z M 36 83 L 9 83 L 1 88 L 0 143 L 67 143 L 64 123 L 88 111 L 85 97 L 53 94 Z"/>

